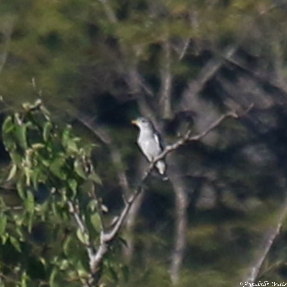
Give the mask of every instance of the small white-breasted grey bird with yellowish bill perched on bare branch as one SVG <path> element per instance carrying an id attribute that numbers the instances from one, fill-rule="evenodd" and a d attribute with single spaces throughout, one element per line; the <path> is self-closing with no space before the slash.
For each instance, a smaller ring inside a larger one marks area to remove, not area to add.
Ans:
<path id="1" fill-rule="evenodd" d="M 139 117 L 132 121 L 134 125 L 139 128 L 139 136 L 137 137 L 137 144 L 144 156 L 149 162 L 152 162 L 164 150 L 164 142 L 158 131 L 149 119 Z M 165 176 L 166 163 L 164 159 L 159 160 L 155 164 L 160 175 Z M 164 177 L 166 180 L 167 177 Z"/>

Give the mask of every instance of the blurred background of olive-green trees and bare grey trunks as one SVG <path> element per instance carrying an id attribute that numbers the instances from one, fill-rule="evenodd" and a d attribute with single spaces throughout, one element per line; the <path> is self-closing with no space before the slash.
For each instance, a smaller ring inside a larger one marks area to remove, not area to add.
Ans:
<path id="1" fill-rule="evenodd" d="M 168 183 L 148 178 L 113 259 L 132 263 L 129 281 L 110 271 L 104 286 L 287 280 L 286 14 L 284 0 L 0 2 L 1 120 L 41 98 L 53 121 L 95 142 L 110 218 L 146 167 L 133 117 L 173 143 L 239 115 L 170 153 Z M 3 198 L 19 205 L 4 183 L 15 168 L 3 144 L 0 161 Z"/>

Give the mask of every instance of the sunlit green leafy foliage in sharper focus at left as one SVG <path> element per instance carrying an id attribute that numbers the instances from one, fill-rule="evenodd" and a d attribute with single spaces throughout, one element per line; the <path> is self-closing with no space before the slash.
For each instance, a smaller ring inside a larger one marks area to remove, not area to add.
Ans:
<path id="1" fill-rule="evenodd" d="M 22 204 L 15 210 L 1 200 L 1 274 L 15 286 L 80 286 L 89 273 L 85 246 L 101 230 L 93 145 L 83 146 L 71 126 L 57 127 L 40 100 L 23 108 L 2 127 L 11 157 L 7 180 Z M 87 231 L 73 223 L 68 202 L 91 222 Z"/>

